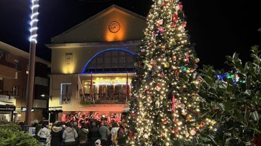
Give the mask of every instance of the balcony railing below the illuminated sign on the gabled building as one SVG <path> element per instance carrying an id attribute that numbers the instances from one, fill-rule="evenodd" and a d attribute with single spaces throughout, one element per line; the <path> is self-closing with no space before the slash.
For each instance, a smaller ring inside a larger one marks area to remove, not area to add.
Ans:
<path id="1" fill-rule="evenodd" d="M 85 94 L 84 100 L 91 101 L 91 104 L 126 104 L 128 102 L 128 97 L 124 93 L 117 94 Z"/>

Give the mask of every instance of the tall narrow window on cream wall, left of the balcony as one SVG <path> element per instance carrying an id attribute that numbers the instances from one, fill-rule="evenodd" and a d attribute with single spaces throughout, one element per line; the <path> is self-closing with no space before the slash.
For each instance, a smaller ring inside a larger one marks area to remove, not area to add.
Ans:
<path id="1" fill-rule="evenodd" d="M 60 84 L 60 104 L 71 104 L 71 83 Z"/>

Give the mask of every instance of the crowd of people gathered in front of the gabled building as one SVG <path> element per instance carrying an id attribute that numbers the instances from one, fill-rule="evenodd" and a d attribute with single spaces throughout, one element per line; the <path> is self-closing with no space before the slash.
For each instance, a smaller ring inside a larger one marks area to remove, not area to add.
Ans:
<path id="1" fill-rule="evenodd" d="M 68 117 L 68 116 L 67 116 Z M 70 116 L 71 117 L 71 116 Z M 82 146 L 82 145 L 120 145 L 119 137 L 124 134 L 125 122 L 112 116 L 95 117 L 73 117 L 73 120 L 61 119 L 53 123 L 52 127 L 43 124 L 41 129 L 36 130 L 38 140 L 44 145 L 58 146 Z"/>

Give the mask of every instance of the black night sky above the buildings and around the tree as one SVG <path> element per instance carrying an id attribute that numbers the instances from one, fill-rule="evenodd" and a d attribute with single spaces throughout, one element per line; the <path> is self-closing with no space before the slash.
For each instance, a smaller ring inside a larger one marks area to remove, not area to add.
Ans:
<path id="1" fill-rule="evenodd" d="M 93 2 L 95 1 L 95 2 Z M 36 55 L 50 60 L 45 47 L 53 36 L 116 4 L 147 16 L 150 0 L 40 0 Z M 225 56 L 240 53 L 249 60 L 250 48 L 261 44 L 261 8 L 258 0 L 183 0 L 186 29 L 202 64 L 224 67 Z M 30 0 L 0 0 L 0 41 L 29 51 Z"/>

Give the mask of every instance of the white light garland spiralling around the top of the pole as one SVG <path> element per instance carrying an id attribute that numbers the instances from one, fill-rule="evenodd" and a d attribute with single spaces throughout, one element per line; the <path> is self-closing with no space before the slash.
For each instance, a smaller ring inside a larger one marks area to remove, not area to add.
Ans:
<path id="1" fill-rule="evenodd" d="M 37 22 L 38 22 L 38 8 L 39 8 L 39 1 L 38 0 L 32 0 L 32 15 L 31 15 L 31 22 L 30 22 L 30 25 L 31 25 L 31 29 L 30 29 L 30 32 L 31 32 L 31 36 L 30 36 L 30 42 L 34 42 L 34 43 L 37 43 Z"/>

